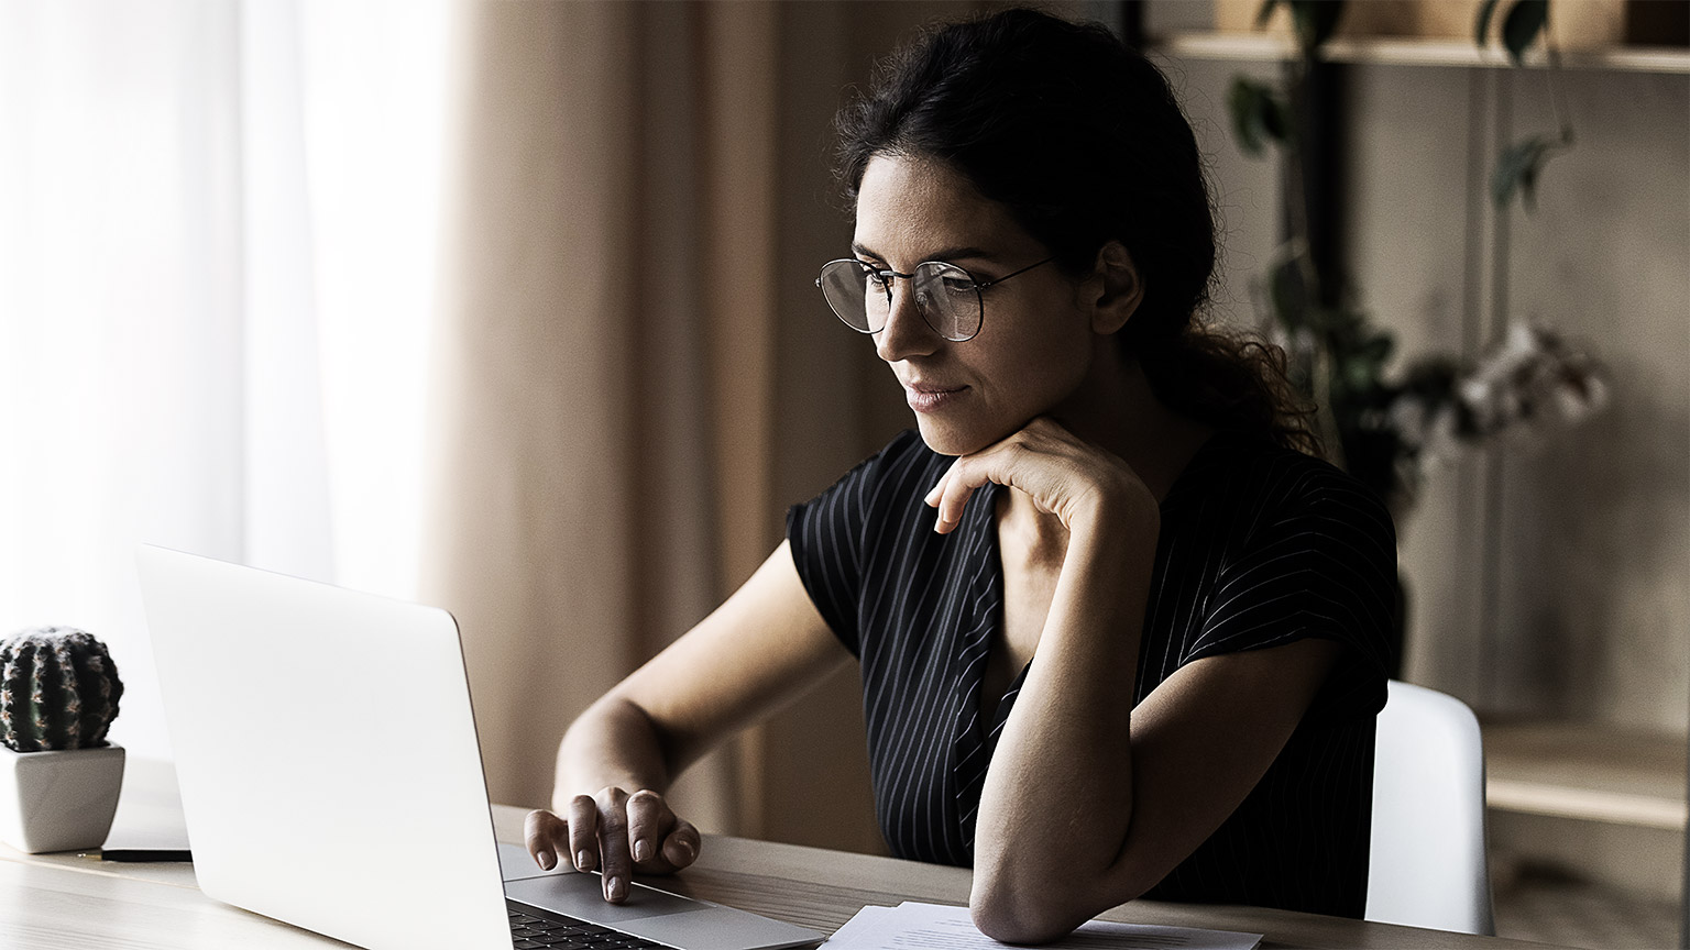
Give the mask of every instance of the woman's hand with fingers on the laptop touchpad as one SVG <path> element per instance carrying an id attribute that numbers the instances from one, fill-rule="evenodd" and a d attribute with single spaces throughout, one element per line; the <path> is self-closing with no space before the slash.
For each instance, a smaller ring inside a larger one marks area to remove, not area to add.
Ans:
<path id="1" fill-rule="evenodd" d="M 546 871 L 558 865 L 559 854 L 571 855 L 576 871 L 602 869 L 612 904 L 627 898 L 632 872 L 674 874 L 698 860 L 698 828 L 651 789 L 629 794 L 608 786 L 598 794 L 576 794 L 568 818 L 544 808 L 529 811 L 524 835 L 534 862 Z"/>

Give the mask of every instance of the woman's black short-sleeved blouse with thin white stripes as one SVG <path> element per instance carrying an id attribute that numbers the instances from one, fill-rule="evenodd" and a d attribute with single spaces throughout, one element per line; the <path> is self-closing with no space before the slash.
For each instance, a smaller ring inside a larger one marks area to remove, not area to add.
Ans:
<path id="1" fill-rule="evenodd" d="M 906 431 L 786 534 L 821 617 L 862 663 L 875 811 L 892 854 L 970 865 L 975 808 L 1026 669 L 979 722 L 1002 571 L 985 485 L 935 534 L 923 502 L 950 456 Z M 1396 610 L 1396 529 L 1338 468 L 1220 431 L 1161 504 L 1136 705 L 1180 666 L 1303 637 L 1350 649 L 1242 805 L 1148 898 L 1360 916 L 1374 713 Z"/>

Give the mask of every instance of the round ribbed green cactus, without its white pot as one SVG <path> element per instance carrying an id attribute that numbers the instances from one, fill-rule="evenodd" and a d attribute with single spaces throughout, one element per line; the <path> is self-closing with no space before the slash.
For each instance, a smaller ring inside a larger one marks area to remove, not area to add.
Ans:
<path id="1" fill-rule="evenodd" d="M 98 637 L 71 627 L 0 641 L 0 742 L 19 752 L 105 745 L 123 681 Z"/>

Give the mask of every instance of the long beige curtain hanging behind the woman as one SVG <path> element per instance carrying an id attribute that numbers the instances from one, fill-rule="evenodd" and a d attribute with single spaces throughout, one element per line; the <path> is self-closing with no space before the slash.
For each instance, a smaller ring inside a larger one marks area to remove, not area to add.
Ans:
<path id="1" fill-rule="evenodd" d="M 830 123 L 874 54 L 968 8 L 461 8 L 422 588 L 463 627 L 495 801 L 546 805 L 570 720 L 911 424 L 813 287 L 850 240 Z M 855 669 L 676 798 L 880 849 Z"/>

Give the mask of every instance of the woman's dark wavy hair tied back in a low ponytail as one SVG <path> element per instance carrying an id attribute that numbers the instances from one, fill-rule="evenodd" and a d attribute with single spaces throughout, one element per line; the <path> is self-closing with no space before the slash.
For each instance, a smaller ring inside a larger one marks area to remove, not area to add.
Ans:
<path id="1" fill-rule="evenodd" d="M 1207 319 L 1215 220 L 1168 79 L 1102 24 L 1014 8 L 923 32 L 840 110 L 837 176 L 855 211 L 874 156 L 940 159 L 1075 276 L 1126 245 L 1144 299 L 1120 345 L 1169 409 L 1322 455 L 1284 352 Z"/>

